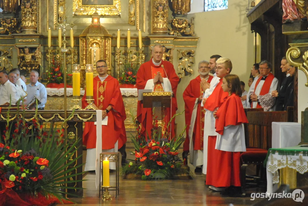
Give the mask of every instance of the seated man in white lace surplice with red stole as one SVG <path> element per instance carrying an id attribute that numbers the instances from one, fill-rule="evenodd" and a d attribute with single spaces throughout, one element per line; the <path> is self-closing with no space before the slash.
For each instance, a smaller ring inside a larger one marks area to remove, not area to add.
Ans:
<path id="1" fill-rule="evenodd" d="M 272 91 L 277 89 L 278 79 L 270 72 L 272 64 L 268 61 L 259 63 L 261 77 L 257 79 L 253 94 L 249 96 L 251 108 L 263 108 L 264 111 L 274 111 L 275 97 Z"/>

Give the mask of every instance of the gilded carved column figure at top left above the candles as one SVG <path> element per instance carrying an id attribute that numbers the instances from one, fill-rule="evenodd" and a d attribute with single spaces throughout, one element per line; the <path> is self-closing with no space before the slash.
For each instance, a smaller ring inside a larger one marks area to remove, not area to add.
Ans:
<path id="1" fill-rule="evenodd" d="M 21 6 L 21 28 L 26 33 L 36 33 L 37 17 L 36 17 L 36 0 L 23 0 Z"/>

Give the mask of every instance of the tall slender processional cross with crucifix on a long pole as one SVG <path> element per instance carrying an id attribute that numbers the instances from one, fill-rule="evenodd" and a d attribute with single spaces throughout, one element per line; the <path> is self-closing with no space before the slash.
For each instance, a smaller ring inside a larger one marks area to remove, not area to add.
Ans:
<path id="1" fill-rule="evenodd" d="M 58 22 L 55 23 L 55 27 L 57 28 L 58 26 L 60 26 L 59 30 L 63 30 L 63 41 L 61 43 L 63 43 L 63 48 L 62 48 L 62 44 L 59 42 L 59 48 L 60 48 L 60 57 L 62 56 L 61 54 L 63 53 L 63 60 L 64 60 L 64 67 L 63 67 L 63 76 L 64 76 L 64 119 L 67 119 L 67 101 L 66 101 L 66 86 L 67 86 L 67 67 L 66 67 L 66 52 L 68 52 L 68 49 L 66 48 L 66 27 L 67 26 L 71 26 L 71 28 L 73 28 L 75 26 L 75 24 L 73 22 L 71 22 L 70 24 L 68 24 L 66 22 L 67 16 L 63 16 L 63 23 L 59 24 Z M 61 33 L 59 32 L 59 41 L 61 41 Z M 72 48 L 73 49 L 73 48 Z M 73 59 L 73 56 L 72 56 Z M 61 63 L 61 60 L 60 60 Z M 65 136 L 67 136 L 67 125 L 66 123 L 64 124 L 64 132 L 65 132 Z"/>

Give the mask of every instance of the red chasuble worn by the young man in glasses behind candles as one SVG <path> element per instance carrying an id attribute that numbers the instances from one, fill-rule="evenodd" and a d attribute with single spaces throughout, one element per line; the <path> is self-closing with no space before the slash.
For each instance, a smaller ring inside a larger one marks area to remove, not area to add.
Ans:
<path id="1" fill-rule="evenodd" d="M 102 149 L 114 148 L 116 141 L 118 141 L 118 149 L 120 149 L 126 143 L 124 126 L 126 113 L 118 80 L 109 75 L 102 82 L 96 76 L 93 80 L 93 96 L 94 103 L 99 109 L 105 110 L 109 105 L 113 108 L 107 114 L 107 125 L 101 126 Z M 82 107 L 85 108 L 86 106 L 86 93 L 84 93 Z M 94 122 L 85 122 L 83 144 L 87 146 L 87 149 L 96 147 L 96 125 L 94 125 Z"/>

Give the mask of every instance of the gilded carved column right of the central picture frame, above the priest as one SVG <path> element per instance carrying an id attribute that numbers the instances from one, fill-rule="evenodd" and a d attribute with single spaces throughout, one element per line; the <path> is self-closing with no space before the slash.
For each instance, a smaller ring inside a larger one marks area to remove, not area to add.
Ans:
<path id="1" fill-rule="evenodd" d="M 168 33 L 168 0 L 152 0 L 152 33 Z"/>

